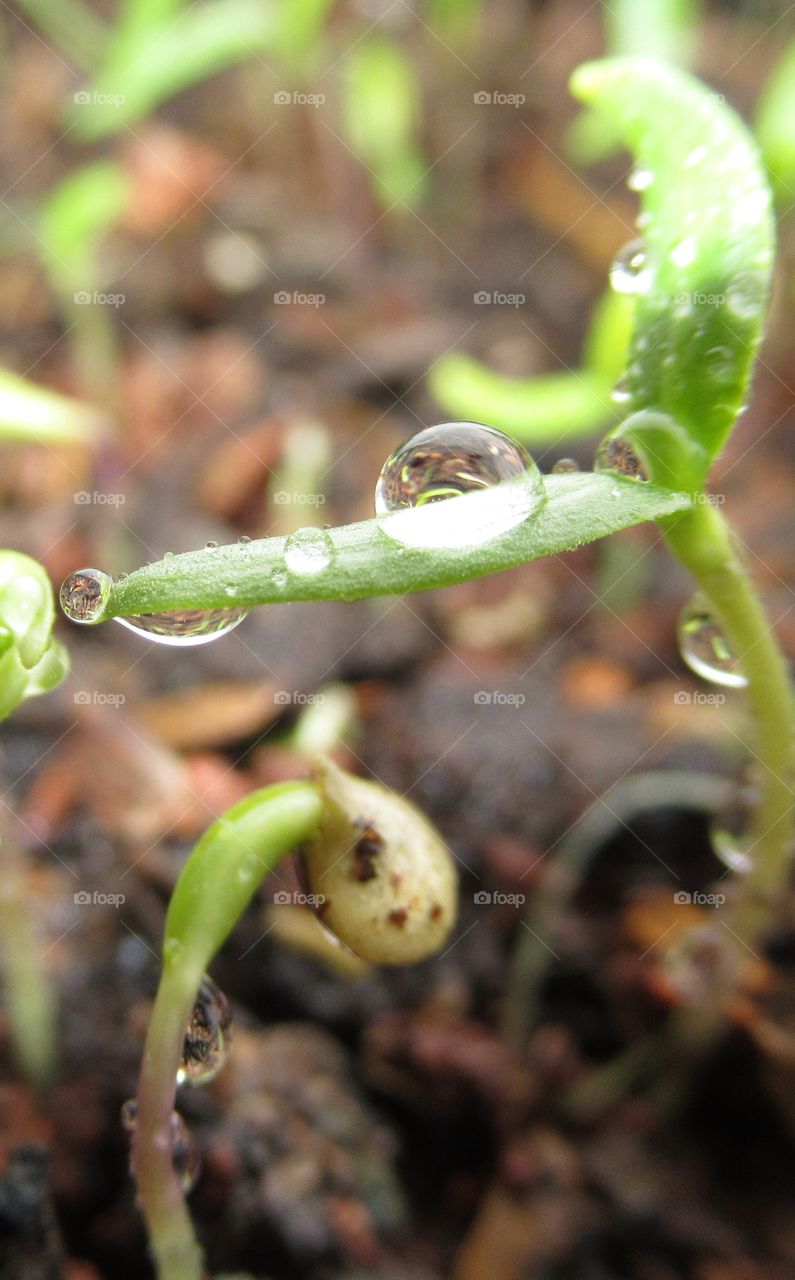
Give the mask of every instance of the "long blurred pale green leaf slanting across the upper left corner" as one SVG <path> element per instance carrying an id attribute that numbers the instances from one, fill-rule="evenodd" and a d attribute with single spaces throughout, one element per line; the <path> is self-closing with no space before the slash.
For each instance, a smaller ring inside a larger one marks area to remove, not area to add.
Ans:
<path id="1" fill-rule="evenodd" d="M 266 0 L 214 0 L 141 32 L 84 91 L 88 101 L 70 113 L 74 136 L 118 133 L 192 84 L 269 49 L 274 29 Z"/>

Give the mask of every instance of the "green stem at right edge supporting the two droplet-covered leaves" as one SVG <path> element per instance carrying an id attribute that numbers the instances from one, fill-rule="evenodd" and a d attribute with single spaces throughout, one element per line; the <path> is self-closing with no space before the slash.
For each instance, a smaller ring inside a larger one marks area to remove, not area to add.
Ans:
<path id="1" fill-rule="evenodd" d="M 751 951 L 785 902 L 792 860 L 795 705 L 787 663 L 718 508 L 703 503 L 663 522 L 668 547 L 695 577 L 748 678 L 755 726 L 759 804 L 744 851 L 753 869 L 737 878 L 723 922 Z M 722 916 L 723 919 L 723 916 Z"/>

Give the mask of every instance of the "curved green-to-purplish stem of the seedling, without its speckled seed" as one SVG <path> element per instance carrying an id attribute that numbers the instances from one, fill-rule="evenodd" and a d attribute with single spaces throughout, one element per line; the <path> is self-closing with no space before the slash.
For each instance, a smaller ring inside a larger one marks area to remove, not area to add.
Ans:
<path id="1" fill-rule="evenodd" d="M 285 852 L 314 836 L 320 812 L 320 792 L 311 782 L 255 792 L 205 832 L 174 888 L 132 1146 L 159 1280 L 201 1280 L 204 1275 L 202 1252 L 174 1170 L 170 1132 L 196 992 L 257 886 Z"/>

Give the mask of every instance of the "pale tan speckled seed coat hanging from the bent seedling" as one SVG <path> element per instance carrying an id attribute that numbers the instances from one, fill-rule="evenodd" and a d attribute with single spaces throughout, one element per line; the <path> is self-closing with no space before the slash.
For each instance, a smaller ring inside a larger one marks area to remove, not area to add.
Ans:
<path id="1" fill-rule="evenodd" d="M 306 851 L 323 923 L 362 960 L 414 964 L 446 942 L 456 922 L 453 859 L 431 824 L 402 796 L 316 765 L 325 805 Z"/>

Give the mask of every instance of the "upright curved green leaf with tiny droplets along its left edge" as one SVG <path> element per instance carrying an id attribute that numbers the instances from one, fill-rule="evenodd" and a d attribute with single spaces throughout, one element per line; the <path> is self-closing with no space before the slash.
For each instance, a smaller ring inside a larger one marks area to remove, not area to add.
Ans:
<path id="1" fill-rule="evenodd" d="M 767 308 L 771 193 L 735 113 L 684 72 L 607 59 L 575 72 L 572 91 L 614 120 L 643 189 L 648 288 L 636 294 L 627 389 L 632 410 L 679 424 L 693 452 L 679 488 L 703 484 L 740 413 Z M 676 466 L 667 458 L 667 481 Z M 654 471 L 652 472 L 654 479 Z"/>

